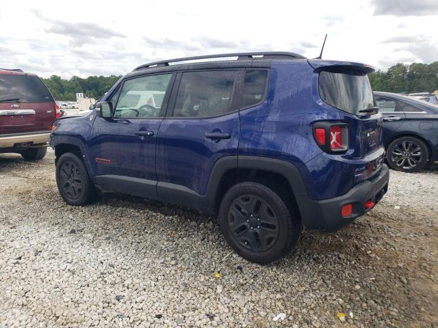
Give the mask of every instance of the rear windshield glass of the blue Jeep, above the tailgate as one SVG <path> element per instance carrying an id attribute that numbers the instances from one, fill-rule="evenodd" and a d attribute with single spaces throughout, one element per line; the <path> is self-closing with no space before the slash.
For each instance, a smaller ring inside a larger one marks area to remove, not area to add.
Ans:
<path id="1" fill-rule="evenodd" d="M 320 72 L 320 98 L 337 109 L 355 115 L 374 106 L 368 76 L 361 72 Z"/>

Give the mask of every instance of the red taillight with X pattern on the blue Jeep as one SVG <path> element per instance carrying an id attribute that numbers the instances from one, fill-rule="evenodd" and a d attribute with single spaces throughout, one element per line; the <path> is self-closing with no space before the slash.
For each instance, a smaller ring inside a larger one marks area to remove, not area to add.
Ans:
<path id="1" fill-rule="evenodd" d="M 313 124 L 313 137 L 324 152 L 348 150 L 348 125 L 342 122 L 320 121 Z"/>

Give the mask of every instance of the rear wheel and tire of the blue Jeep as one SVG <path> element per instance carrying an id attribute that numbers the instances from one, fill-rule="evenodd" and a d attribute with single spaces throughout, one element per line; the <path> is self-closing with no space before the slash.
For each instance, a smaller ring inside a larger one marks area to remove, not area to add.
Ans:
<path id="1" fill-rule="evenodd" d="M 237 254 L 250 262 L 268 264 L 294 249 L 302 226 L 286 199 L 259 182 L 241 182 L 225 193 L 219 225 Z"/>

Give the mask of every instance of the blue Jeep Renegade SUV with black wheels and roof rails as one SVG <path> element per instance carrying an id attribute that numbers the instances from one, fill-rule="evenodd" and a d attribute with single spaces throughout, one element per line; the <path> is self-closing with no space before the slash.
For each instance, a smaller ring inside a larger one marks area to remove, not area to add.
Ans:
<path id="1" fill-rule="evenodd" d="M 57 187 L 71 205 L 109 189 L 216 213 L 240 256 L 279 260 L 302 226 L 335 231 L 387 191 L 372 71 L 295 53 L 140 66 L 55 122 Z"/>

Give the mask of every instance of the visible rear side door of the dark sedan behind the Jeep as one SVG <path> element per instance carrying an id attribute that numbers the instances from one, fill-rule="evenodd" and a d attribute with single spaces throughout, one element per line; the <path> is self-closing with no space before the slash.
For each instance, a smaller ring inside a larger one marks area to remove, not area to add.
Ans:
<path id="1" fill-rule="evenodd" d="M 383 114 L 383 144 L 388 146 L 392 137 L 403 124 L 405 115 L 398 107 L 398 101 L 395 99 L 375 96 L 376 105 Z"/>

